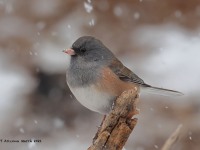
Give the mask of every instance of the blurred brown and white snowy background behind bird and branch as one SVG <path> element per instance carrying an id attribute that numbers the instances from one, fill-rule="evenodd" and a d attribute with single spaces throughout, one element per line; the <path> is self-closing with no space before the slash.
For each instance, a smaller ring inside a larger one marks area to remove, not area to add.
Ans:
<path id="1" fill-rule="evenodd" d="M 127 150 L 160 149 L 179 124 L 173 149 L 199 150 L 199 0 L 0 0 L 0 149 L 90 146 L 103 116 L 69 91 L 62 53 L 83 35 L 103 41 L 148 84 L 185 94 L 142 93 Z M 42 142 L 4 142 L 34 139 Z"/>

